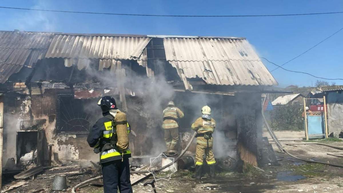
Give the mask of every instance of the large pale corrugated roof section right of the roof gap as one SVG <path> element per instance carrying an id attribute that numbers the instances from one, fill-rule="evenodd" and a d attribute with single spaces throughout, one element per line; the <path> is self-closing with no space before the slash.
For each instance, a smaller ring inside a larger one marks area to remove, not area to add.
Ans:
<path id="1" fill-rule="evenodd" d="M 199 77 L 216 85 L 277 85 L 245 38 L 164 38 L 163 42 L 166 59 L 181 79 Z"/>

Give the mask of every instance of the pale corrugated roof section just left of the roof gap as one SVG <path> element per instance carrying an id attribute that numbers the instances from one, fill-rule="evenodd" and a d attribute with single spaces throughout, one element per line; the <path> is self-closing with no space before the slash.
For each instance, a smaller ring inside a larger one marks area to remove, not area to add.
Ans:
<path id="1" fill-rule="evenodd" d="M 141 59 L 149 37 L 56 35 L 46 58 Z"/>

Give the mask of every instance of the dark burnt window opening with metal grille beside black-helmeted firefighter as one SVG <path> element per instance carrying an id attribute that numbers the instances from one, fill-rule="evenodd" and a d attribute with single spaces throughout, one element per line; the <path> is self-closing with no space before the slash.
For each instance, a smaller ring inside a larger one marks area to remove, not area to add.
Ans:
<path id="1" fill-rule="evenodd" d="M 91 99 L 74 99 L 73 95 L 60 95 L 57 101 L 56 133 L 87 134 L 94 121 L 94 116 L 90 113 L 93 106 L 88 103 L 96 104 Z"/>

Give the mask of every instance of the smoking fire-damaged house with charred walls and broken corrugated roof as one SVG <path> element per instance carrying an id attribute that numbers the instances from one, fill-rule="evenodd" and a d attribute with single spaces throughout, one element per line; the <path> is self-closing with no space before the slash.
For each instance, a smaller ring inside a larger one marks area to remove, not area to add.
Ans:
<path id="1" fill-rule="evenodd" d="M 269 148 L 261 94 L 277 85 L 246 38 L 12 31 L 0 32 L 0 83 L 3 168 L 98 161 L 86 137 L 104 95 L 128 114 L 133 159 L 166 150 L 162 110 L 174 100 L 185 113 L 181 148 L 209 105 L 216 158 L 257 166 Z"/>

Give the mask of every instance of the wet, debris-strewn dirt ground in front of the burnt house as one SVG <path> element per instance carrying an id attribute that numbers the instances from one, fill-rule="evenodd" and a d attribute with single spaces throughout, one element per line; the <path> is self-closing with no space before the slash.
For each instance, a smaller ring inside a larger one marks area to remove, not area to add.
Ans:
<path id="1" fill-rule="evenodd" d="M 302 138 L 303 132 L 275 131 L 278 138 Z M 268 136 L 264 133 L 263 136 Z M 335 146 L 343 146 L 341 140 L 311 140 L 326 143 Z M 286 142 L 286 141 L 283 141 Z M 294 141 L 288 141 L 294 142 Z M 301 141 L 296 141 L 301 142 Z M 246 167 L 245 173 L 217 171 L 215 180 L 210 180 L 207 174 L 198 183 L 191 178 L 193 171 L 179 170 L 174 173 L 170 180 L 159 180 L 155 183 L 158 193 L 168 192 L 343 192 L 343 168 L 327 166 L 324 164 L 309 163 L 291 158 L 287 154 L 279 152 L 278 148 L 273 145 L 275 155 L 278 159 L 279 166 L 267 165 L 262 167 L 264 171 L 253 167 Z M 291 154 L 327 163 L 336 163 L 343 165 L 343 158 L 327 155 L 327 152 L 343 152 L 326 146 L 319 145 L 284 145 L 286 151 Z M 87 167 L 83 175 L 69 176 L 67 183 L 69 188 L 66 192 L 71 192 L 71 187 L 90 179 L 97 174 L 87 172 Z M 94 172 L 94 169 L 93 169 Z M 153 192 L 151 186 L 143 186 L 147 181 L 151 181 L 152 176 L 133 186 L 134 193 Z M 42 192 L 51 192 L 51 183 L 53 178 L 40 178 L 34 181 L 28 180 L 29 184 L 22 186 L 10 192 L 32 192 L 40 188 Z M 79 193 L 101 193 L 103 192 L 102 182 L 94 181 L 93 183 L 80 188 Z"/>

